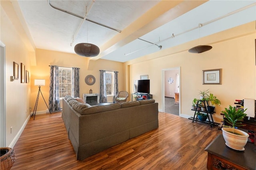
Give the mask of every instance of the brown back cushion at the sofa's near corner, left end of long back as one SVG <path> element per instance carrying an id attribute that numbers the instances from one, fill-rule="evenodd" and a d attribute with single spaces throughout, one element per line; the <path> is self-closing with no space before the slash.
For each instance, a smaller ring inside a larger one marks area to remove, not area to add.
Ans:
<path id="1" fill-rule="evenodd" d="M 120 108 L 121 108 L 121 105 L 119 103 L 113 103 L 110 105 L 103 105 L 103 106 L 92 106 L 87 109 L 83 109 L 83 112 L 81 113 L 81 115 L 90 115 L 93 113 L 112 111 Z"/>

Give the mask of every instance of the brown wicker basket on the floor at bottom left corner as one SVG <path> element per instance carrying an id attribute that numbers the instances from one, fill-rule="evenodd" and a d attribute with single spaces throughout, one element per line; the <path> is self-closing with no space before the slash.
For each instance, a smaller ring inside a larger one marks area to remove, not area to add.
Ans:
<path id="1" fill-rule="evenodd" d="M 1 170 L 10 170 L 14 161 L 15 161 L 15 153 L 12 148 L 0 148 L 1 156 L 0 156 L 0 167 Z"/>

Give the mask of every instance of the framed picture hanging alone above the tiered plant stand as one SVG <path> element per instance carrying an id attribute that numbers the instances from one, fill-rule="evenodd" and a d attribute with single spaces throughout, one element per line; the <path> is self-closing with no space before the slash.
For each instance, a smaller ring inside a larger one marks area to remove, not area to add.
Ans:
<path id="1" fill-rule="evenodd" d="M 203 85 L 221 85 L 222 69 L 203 70 Z"/>

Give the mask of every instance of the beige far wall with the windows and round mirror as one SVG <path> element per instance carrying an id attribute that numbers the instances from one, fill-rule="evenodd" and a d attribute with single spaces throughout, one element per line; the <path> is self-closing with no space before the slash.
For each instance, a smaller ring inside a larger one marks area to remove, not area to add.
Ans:
<path id="1" fill-rule="evenodd" d="M 89 64 L 88 64 L 89 62 Z M 80 98 L 83 93 L 89 93 L 92 89 L 93 93 L 100 93 L 100 71 L 118 71 L 118 88 L 119 91 L 124 90 L 124 71 L 123 63 L 98 59 L 89 61 L 87 57 L 82 57 L 76 54 L 62 53 L 58 51 L 50 51 L 44 49 L 36 49 L 36 66 L 31 67 L 31 97 L 30 105 L 33 106 L 36 102 L 38 86 L 34 86 L 34 79 L 45 79 L 46 85 L 41 87 L 42 94 L 48 105 L 49 90 L 50 90 L 50 67 L 49 65 L 58 65 L 59 67 L 78 67 L 80 68 Z M 89 67 L 87 67 L 89 65 Z M 96 79 L 94 85 L 87 85 L 84 81 L 87 75 L 93 75 Z M 113 102 L 113 97 L 108 98 L 108 102 Z M 47 106 L 40 95 L 37 111 L 45 113 Z"/>

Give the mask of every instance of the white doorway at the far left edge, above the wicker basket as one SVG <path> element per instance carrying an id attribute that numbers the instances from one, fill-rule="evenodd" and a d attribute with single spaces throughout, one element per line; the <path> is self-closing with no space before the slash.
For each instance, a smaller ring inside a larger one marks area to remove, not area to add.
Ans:
<path id="1" fill-rule="evenodd" d="M 0 42 L 0 147 L 6 147 L 5 45 Z"/>

